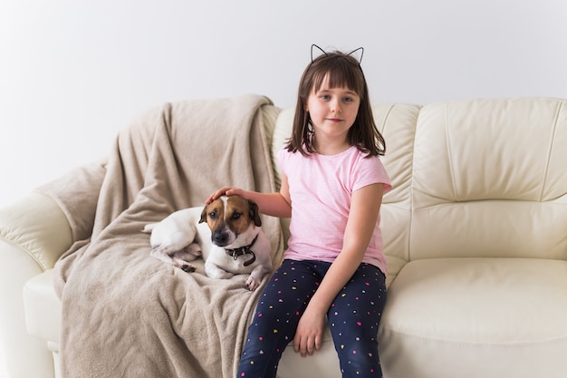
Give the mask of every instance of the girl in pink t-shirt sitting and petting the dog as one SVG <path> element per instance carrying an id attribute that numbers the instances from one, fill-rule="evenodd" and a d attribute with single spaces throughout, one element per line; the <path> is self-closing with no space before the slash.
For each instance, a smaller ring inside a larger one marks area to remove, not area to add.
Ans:
<path id="1" fill-rule="evenodd" d="M 380 205 L 390 189 L 379 156 L 385 141 L 370 109 L 360 62 L 323 53 L 305 69 L 293 134 L 278 153 L 277 193 L 237 188 L 264 214 L 291 217 L 282 266 L 259 298 L 238 378 L 275 377 L 286 345 L 321 347 L 325 316 L 343 377 L 380 377 L 377 332 L 386 300 Z"/>

